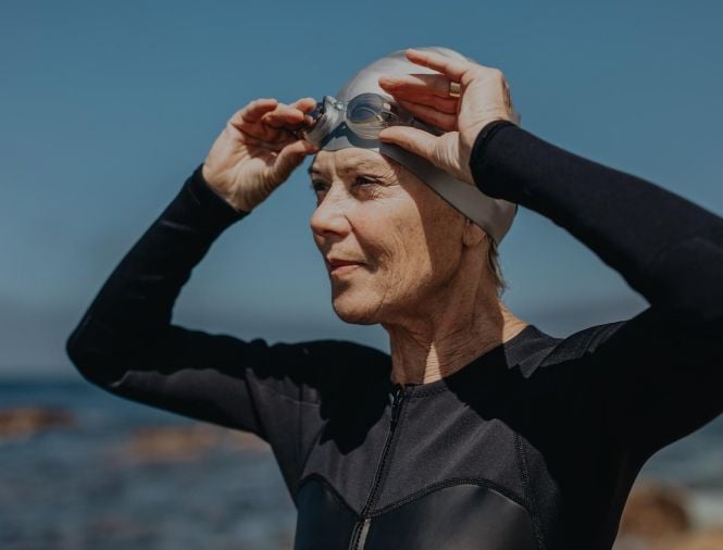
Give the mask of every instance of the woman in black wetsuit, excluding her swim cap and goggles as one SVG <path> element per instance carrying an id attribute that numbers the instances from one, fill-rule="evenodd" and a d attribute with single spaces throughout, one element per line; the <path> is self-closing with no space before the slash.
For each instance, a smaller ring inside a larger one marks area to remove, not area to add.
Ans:
<path id="1" fill-rule="evenodd" d="M 504 308 L 488 261 L 509 210 L 484 229 L 403 162 L 299 139 L 314 100 L 257 100 L 111 274 L 67 352 L 116 395 L 269 441 L 298 508 L 297 549 L 609 549 L 645 461 L 723 411 L 723 222 L 519 128 L 499 71 L 444 51 L 407 58 L 425 74 L 378 84 L 442 133 L 397 125 L 378 139 L 546 215 L 647 310 L 544 334 Z M 311 153 L 334 309 L 381 323 L 391 357 L 171 324 L 213 240 Z"/>

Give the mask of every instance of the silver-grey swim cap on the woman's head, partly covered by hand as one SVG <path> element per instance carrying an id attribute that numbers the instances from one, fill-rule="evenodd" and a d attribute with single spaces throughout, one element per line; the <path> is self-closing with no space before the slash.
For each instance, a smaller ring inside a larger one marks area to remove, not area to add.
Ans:
<path id="1" fill-rule="evenodd" d="M 440 47 L 416 48 L 422 51 L 434 51 L 447 57 L 466 60 L 464 55 Z M 404 55 L 404 50 L 399 50 L 381 58 L 366 65 L 351 77 L 337 92 L 334 99 L 339 104 L 347 105 L 354 98 L 363 93 L 374 93 L 387 98 L 394 102 L 394 98 L 384 91 L 379 85 L 381 76 L 401 76 L 408 74 L 437 72 L 416 65 L 409 61 Z M 326 98 L 325 98 L 326 99 Z M 332 98 L 329 98 L 332 99 Z M 349 147 L 359 147 L 371 149 L 388 157 L 409 170 L 412 174 L 427 184 L 447 202 L 449 202 L 459 212 L 472 220 L 482 227 L 494 240 L 499 243 L 512 225 L 512 220 L 518 210 L 518 205 L 501 199 L 487 197 L 476 187 L 456 179 L 450 174 L 436 167 L 423 158 L 413 154 L 406 149 L 392 143 L 384 143 L 378 139 L 360 137 L 358 133 L 340 122 L 335 127 L 329 128 L 329 133 L 322 141 L 321 149 L 326 151 L 336 151 Z M 439 130 L 441 133 L 441 130 Z"/>

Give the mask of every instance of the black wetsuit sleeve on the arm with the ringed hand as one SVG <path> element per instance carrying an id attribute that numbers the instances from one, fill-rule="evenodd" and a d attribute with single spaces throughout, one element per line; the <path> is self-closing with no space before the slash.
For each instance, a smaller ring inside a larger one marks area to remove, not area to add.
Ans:
<path id="1" fill-rule="evenodd" d="M 483 192 L 563 227 L 649 302 L 631 320 L 577 335 L 589 366 L 581 402 L 604 411 L 643 453 L 723 412 L 721 217 L 508 122 L 481 132 L 470 165 Z"/>

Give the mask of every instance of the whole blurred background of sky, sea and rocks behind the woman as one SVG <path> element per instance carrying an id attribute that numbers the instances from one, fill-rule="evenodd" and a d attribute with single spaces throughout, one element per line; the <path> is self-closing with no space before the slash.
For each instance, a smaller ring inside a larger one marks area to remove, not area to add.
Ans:
<path id="1" fill-rule="evenodd" d="M 110 396 L 64 353 L 236 110 L 321 98 L 389 51 L 446 46 L 504 71 L 523 127 L 723 214 L 722 16 L 715 1 L 3 0 L 0 547 L 291 548 L 294 507 L 265 445 Z M 332 311 L 313 208 L 300 170 L 214 243 L 174 322 L 388 350 L 381 327 Z M 647 305 L 526 209 L 500 258 L 506 303 L 553 336 Z M 653 457 L 634 497 L 643 512 L 618 548 L 663 548 L 661 517 L 676 541 L 712 537 L 723 418 Z"/>

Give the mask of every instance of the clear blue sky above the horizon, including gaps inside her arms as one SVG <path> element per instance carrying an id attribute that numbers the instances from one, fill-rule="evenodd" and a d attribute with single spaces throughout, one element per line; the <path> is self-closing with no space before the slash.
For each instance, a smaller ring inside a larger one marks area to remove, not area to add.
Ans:
<path id="1" fill-rule="evenodd" d="M 257 97 L 333 93 L 410 46 L 502 68 L 523 126 L 723 214 L 723 4 L 17 1 L 0 9 L 0 376 L 76 376 L 64 341 L 116 265 Z M 303 170 L 229 228 L 174 322 L 270 341 L 349 338 L 308 227 Z M 646 307 L 521 209 L 507 304 L 554 336 Z"/>

